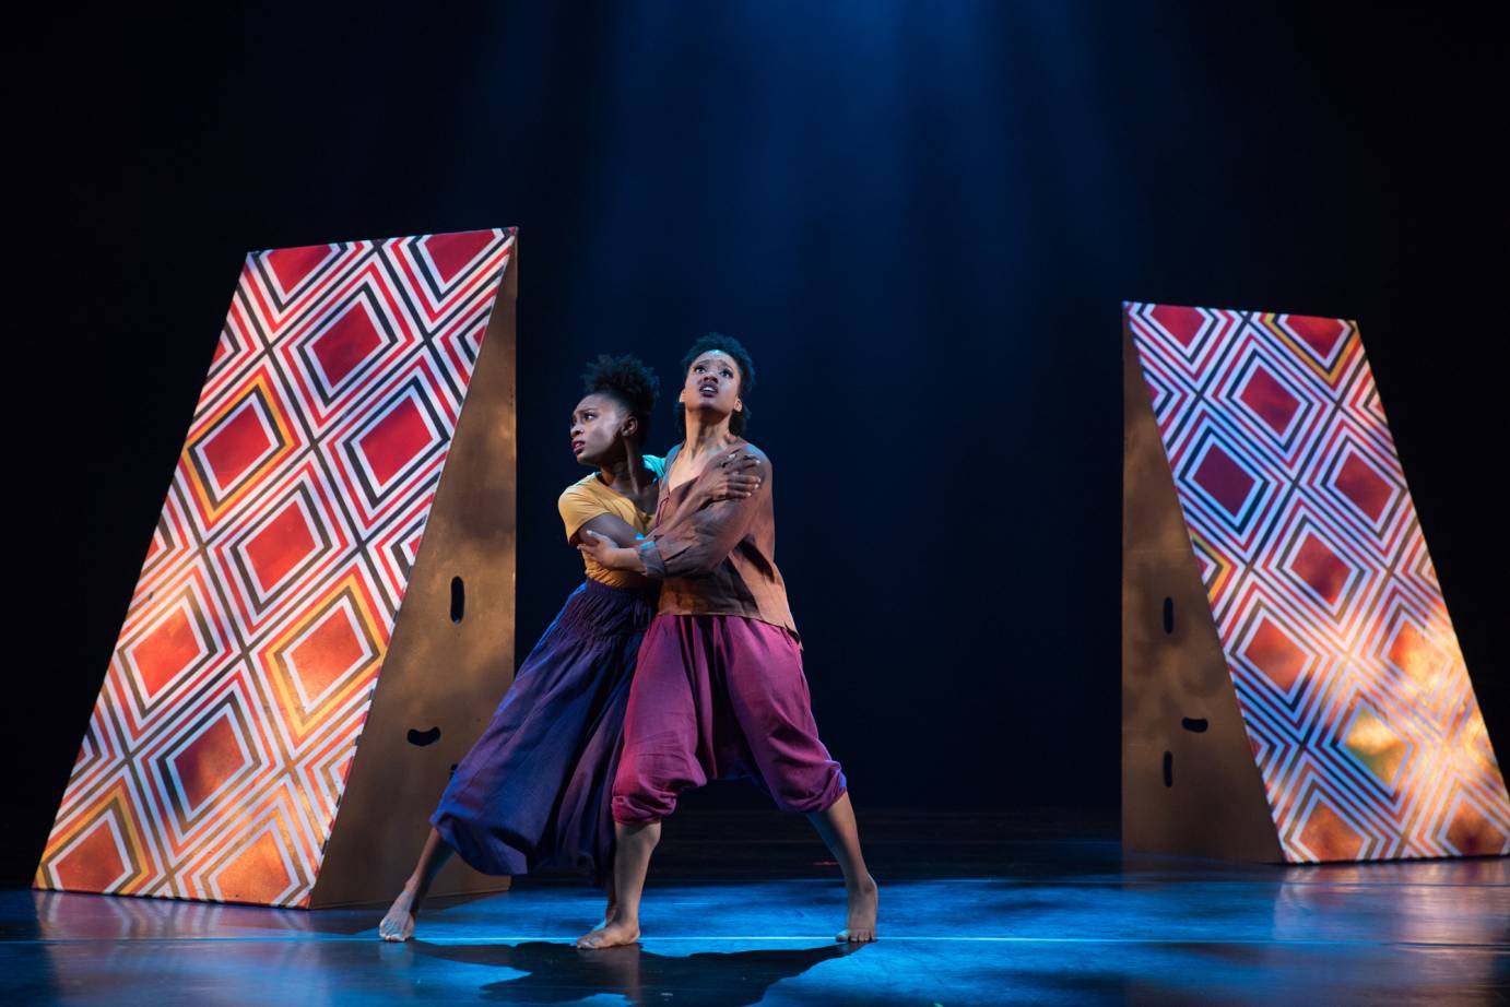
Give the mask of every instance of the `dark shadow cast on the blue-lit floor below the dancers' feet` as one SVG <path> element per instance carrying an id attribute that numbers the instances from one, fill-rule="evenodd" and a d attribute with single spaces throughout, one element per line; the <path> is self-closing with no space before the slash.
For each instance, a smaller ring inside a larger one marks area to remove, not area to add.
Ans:
<path id="1" fill-rule="evenodd" d="M 814 965 L 858 951 L 864 945 L 832 944 L 820 948 L 763 951 L 699 951 L 652 954 L 630 945 L 606 951 L 580 951 L 569 944 L 530 941 L 518 945 L 433 945 L 415 942 L 414 950 L 448 962 L 501 965 L 525 975 L 482 987 L 491 1001 L 527 999 L 568 1004 L 596 993 L 618 993 L 631 1004 L 675 1002 L 683 1007 L 746 1007 L 766 998 L 766 990 L 784 978 L 802 975 Z"/>

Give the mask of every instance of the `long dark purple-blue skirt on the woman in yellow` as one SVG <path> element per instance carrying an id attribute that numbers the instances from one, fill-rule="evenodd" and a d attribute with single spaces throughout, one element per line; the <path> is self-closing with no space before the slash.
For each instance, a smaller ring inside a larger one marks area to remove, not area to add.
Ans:
<path id="1" fill-rule="evenodd" d="M 613 873 L 613 774 L 654 596 L 589 580 L 519 666 L 430 824 L 485 874 Z"/>

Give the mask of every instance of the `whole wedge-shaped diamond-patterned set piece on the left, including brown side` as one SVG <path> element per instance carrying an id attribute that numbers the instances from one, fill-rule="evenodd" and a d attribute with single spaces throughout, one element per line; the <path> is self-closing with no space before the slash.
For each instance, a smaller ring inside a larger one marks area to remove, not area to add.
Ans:
<path id="1" fill-rule="evenodd" d="M 513 228 L 246 258 L 38 888 L 399 891 L 513 672 L 516 296 Z"/>

